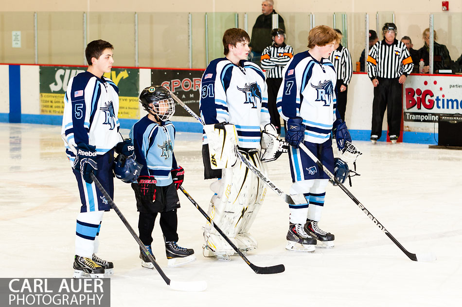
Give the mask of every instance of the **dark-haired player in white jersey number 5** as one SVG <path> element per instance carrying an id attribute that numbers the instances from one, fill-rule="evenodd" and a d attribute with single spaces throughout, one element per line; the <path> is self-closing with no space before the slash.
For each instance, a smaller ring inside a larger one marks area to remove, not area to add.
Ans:
<path id="1" fill-rule="evenodd" d="M 74 278 L 112 274 L 112 262 L 95 255 L 103 213 L 111 207 L 90 174 L 94 173 L 113 197 L 114 147 L 125 156 L 133 155 L 131 140 L 123 140 L 119 133 L 119 89 L 113 81 L 103 77 L 114 63 L 112 50 L 112 45 L 106 41 L 90 42 L 85 49 L 88 70 L 71 78 L 64 96 L 61 133 L 77 150 L 74 154 L 66 145 L 82 203 L 75 232 Z"/>

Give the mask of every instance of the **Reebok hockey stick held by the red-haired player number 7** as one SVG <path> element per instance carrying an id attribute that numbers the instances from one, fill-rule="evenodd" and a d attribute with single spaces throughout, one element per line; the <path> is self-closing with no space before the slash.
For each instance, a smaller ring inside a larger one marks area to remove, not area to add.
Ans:
<path id="1" fill-rule="evenodd" d="M 380 223 L 373 215 L 372 213 L 367 210 L 363 204 L 361 204 L 359 202 L 359 200 L 356 199 L 356 197 L 351 194 L 350 191 L 348 191 L 347 188 L 345 188 L 345 186 L 343 184 L 341 184 L 340 181 L 338 181 L 338 179 L 319 161 L 319 159 L 308 149 L 306 148 L 306 146 L 303 144 L 303 143 L 300 143 L 300 148 L 316 163 L 318 164 L 318 166 L 320 168 L 322 168 L 324 170 L 324 173 L 327 174 L 327 176 L 329 176 L 329 178 L 331 178 L 341 189 L 343 192 L 345 192 L 345 194 L 347 194 L 354 202 L 355 204 L 359 207 L 359 209 L 361 209 L 372 221 L 375 225 L 377 225 L 377 227 L 380 228 L 380 230 L 382 230 L 383 232 L 385 232 L 385 234 L 390 238 L 391 241 L 393 241 L 393 243 L 396 244 L 396 246 L 399 247 L 399 249 L 401 249 L 403 251 L 403 253 L 406 254 L 406 256 L 409 257 L 409 259 L 413 260 L 413 261 L 434 261 L 436 260 L 436 255 L 433 254 L 433 253 L 418 253 L 418 254 L 412 254 L 410 253 L 408 250 L 406 250 L 406 248 L 403 247 L 403 245 L 400 244 L 400 242 L 398 242 L 398 240 L 396 240 L 390 232 L 388 232 L 388 230 L 382 225 L 382 223 Z"/>

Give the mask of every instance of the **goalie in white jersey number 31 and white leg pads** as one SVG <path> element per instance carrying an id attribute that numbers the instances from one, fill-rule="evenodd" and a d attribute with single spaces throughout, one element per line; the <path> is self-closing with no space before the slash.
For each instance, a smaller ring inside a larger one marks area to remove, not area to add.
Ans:
<path id="1" fill-rule="evenodd" d="M 209 215 L 213 222 L 239 249 L 248 251 L 257 246 L 249 234 L 249 227 L 263 202 L 266 188 L 245 165 L 236 162 L 232 142 L 237 143 L 243 154 L 265 173 L 260 160 L 261 130 L 267 126 L 275 133 L 275 128 L 269 124 L 265 75 L 258 65 L 246 60 L 249 34 L 242 29 L 228 29 L 223 35 L 223 46 L 225 57 L 213 60 L 201 81 L 199 108 L 205 123 L 204 177 L 218 178 L 211 185 L 215 194 Z M 230 147 L 224 145 L 223 134 L 231 142 Z M 212 152 L 215 147 L 219 150 L 226 147 L 221 150 L 221 157 L 229 157 L 229 163 Z M 204 239 L 206 257 L 230 259 L 234 253 L 210 224 L 205 227 Z"/>

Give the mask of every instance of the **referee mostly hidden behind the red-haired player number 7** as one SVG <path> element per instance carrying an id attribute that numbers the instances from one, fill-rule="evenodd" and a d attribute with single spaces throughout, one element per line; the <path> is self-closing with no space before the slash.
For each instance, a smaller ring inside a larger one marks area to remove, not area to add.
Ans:
<path id="1" fill-rule="evenodd" d="M 335 71 L 337 72 L 337 110 L 342 121 L 345 121 L 348 83 L 350 83 L 351 76 L 353 75 L 353 65 L 351 63 L 350 51 L 340 44 L 342 32 L 338 29 L 335 29 L 335 31 L 338 33 L 337 41 L 334 45 L 335 50 L 329 56 L 329 60 L 334 64 Z"/>

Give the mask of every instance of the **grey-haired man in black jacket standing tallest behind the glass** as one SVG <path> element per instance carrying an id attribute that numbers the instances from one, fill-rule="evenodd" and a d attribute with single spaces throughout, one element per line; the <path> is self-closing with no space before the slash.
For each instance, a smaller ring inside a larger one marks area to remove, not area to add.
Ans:
<path id="1" fill-rule="evenodd" d="M 249 60 L 259 66 L 261 66 L 260 59 L 263 50 L 273 43 L 271 40 L 271 30 L 273 30 L 272 14 L 278 14 L 273 10 L 273 5 L 273 0 L 265 0 L 262 2 L 263 14 L 257 17 L 252 28 L 252 37 L 249 43 Z M 279 16 L 278 27 L 285 31 L 284 19 L 281 15 Z"/>

